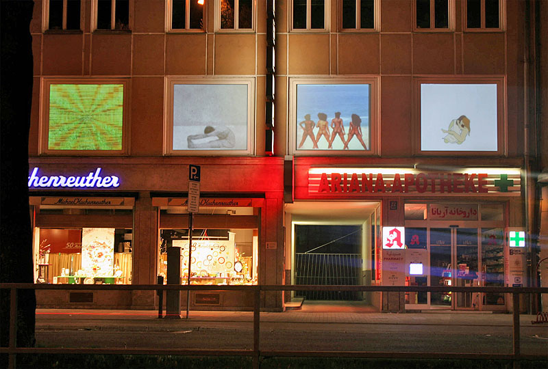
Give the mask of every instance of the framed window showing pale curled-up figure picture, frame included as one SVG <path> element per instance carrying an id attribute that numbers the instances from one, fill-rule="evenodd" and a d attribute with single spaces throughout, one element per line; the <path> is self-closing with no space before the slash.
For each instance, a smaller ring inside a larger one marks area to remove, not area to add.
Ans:
<path id="1" fill-rule="evenodd" d="M 503 78 L 423 77 L 415 84 L 421 153 L 503 153 Z"/>

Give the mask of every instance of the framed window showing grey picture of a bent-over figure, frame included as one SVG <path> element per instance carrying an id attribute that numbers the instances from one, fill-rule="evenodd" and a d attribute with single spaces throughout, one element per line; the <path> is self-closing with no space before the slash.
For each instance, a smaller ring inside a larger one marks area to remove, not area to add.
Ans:
<path id="1" fill-rule="evenodd" d="M 165 153 L 253 154 L 254 81 L 168 79 Z"/>

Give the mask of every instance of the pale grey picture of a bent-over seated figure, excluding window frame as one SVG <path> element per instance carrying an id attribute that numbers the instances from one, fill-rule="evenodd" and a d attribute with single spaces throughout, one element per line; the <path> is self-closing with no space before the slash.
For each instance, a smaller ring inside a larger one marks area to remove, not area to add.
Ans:
<path id="1" fill-rule="evenodd" d="M 248 87 L 173 85 L 173 150 L 247 150 Z"/>

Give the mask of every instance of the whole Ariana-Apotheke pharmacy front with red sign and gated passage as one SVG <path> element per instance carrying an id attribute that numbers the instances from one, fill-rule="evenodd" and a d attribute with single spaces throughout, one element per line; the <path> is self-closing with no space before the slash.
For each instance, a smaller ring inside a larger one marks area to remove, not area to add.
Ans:
<path id="1" fill-rule="evenodd" d="M 294 283 L 305 284 L 299 281 L 303 236 L 296 231 L 298 227 L 314 224 L 340 228 L 353 224 L 358 227 L 356 232 L 363 234 L 363 247 L 356 254 L 358 267 L 354 275 L 358 278 L 349 284 L 527 286 L 525 236 L 519 232 L 519 168 L 443 170 L 348 163 L 319 167 L 315 162 L 312 158 L 295 158 L 292 163 L 294 200 L 286 205 L 286 228 L 292 230 L 286 234 L 286 243 L 291 245 L 286 253 L 291 258 L 286 258 L 286 265 L 291 266 L 288 273 Z M 332 249 L 326 246 L 335 238 L 312 240 L 304 252 L 315 254 L 321 248 L 328 254 L 338 254 L 344 245 Z M 340 270 L 340 262 L 332 264 L 333 271 Z M 319 262 L 308 269 L 321 270 Z M 321 273 L 308 281 L 344 284 L 340 283 L 342 279 L 321 279 Z M 403 310 L 403 306 L 406 310 L 506 310 L 509 303 L 503 294 L 450 291 L 395 296 L 371 293 L 358 299 L 382 311 Z"/>

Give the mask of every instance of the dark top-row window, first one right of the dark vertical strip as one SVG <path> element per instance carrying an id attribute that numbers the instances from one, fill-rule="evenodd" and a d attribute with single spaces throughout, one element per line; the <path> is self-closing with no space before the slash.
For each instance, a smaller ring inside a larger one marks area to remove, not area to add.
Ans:
<path id="1" fill-rule="evenodd" d="M 292 0 L 291 29 L 293 30 L 322 30 L 327 29 L 326 0 Z"/>

